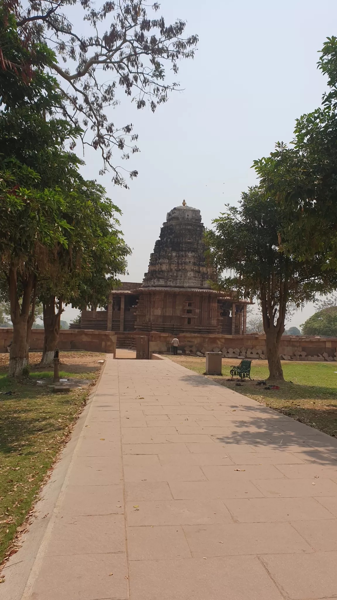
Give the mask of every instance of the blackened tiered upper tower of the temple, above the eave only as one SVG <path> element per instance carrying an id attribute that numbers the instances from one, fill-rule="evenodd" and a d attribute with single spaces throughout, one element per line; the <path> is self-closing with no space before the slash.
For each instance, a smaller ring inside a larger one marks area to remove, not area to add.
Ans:
<path id="1" fill-rule="evenodd" d="M 150 256 L 142 288 L 210 289 L 212 268 L 204 257 L 204 226 L 200 211 L 185 200 L 167 213 L 160 239 Z"/>

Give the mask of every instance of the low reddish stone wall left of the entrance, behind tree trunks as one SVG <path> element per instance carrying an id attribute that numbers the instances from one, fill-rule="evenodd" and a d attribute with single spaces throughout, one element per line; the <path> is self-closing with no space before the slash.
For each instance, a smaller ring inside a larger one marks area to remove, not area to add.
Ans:
<path id="1" fill-rule="evenodd" d="M 7 346 L 13 339 L 13 329 L 0 328 L 0 352 L 7 352 Z M 115 354 L 117 336 L 113 331 L 95 329 L 61 329 L 58 347 L 60 350 L 88 350 L 88 352 L 106 352 Z M 42 352 L 44 329 L 32 329 L 29 349 Z"/>

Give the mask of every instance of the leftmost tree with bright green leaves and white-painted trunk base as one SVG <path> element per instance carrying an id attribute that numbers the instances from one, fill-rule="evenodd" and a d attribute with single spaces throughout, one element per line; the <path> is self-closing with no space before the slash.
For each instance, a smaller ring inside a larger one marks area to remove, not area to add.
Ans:
<path id="1" fill-rule="evenodd" d="M 8 375 L 16 377 L 28 364 L 38 279 L 50 272 L 55 244 L 67 244 L 68 226 L 62 220 L 62 196 L 36 189 L 39 176 L 29 167 L 5 162 L 8 168 L 0 169 L 0 261 L 13 323 Z"/>

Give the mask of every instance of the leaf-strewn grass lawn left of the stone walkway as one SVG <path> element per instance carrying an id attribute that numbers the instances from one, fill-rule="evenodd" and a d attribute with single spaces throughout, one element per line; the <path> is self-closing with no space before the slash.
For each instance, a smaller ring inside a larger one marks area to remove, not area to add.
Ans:
<path id="1" fill-rule="evenodd" d="M 85 358 L 82 372 L 60 376 L 97 378 L 100 367 L 86 371 Z M 97 354 L 95 362 L 100 358 Z M 34 370 L 29 379 L 13 382 L 7 367 L 0 367 L 0 392 L 16 392 L 0 394 L 0 563 L 88 397 L 88 387 L 57 394 L 48 385 L 37 386 L 37 379 L 46 377 L 52 383 L 53 371 Z"/>

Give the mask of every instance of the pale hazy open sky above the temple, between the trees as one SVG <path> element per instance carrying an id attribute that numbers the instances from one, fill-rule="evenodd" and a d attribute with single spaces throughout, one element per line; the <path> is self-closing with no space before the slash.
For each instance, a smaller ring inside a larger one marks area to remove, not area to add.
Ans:
<path id="1" fill-rule="evenodd" d="M 337 34 L 337 4 L 326 0 L 163 0 L 167 22 L 187 21 L 200 42 L 193 61 L 179 66 L 182 91 L 155 114 L 137 111 L 127 96 L 111 110 L 115 125 L 132 121 L 140 153 L 124 163 L 137 169 L 130 190 L 98 175 L 100 157 L 89 151 L 86 178 L 97 178 L 122 209 L 122 230 L 133 248 L 129 275 L 142 281 L 167 212 L 183 199 L 210 226 L 240 192 L 255 183 L 251 164 L 276 141 L 289 142 L 294 121 L 320 104 L 326 78 L 317 71 L 327 36 Z M 167 80 L 173 77 L 167 65 Z M 308 305 L 291 325 L 314 312 Z M 66 310 L 65 318 L 70 318 Z"/>

